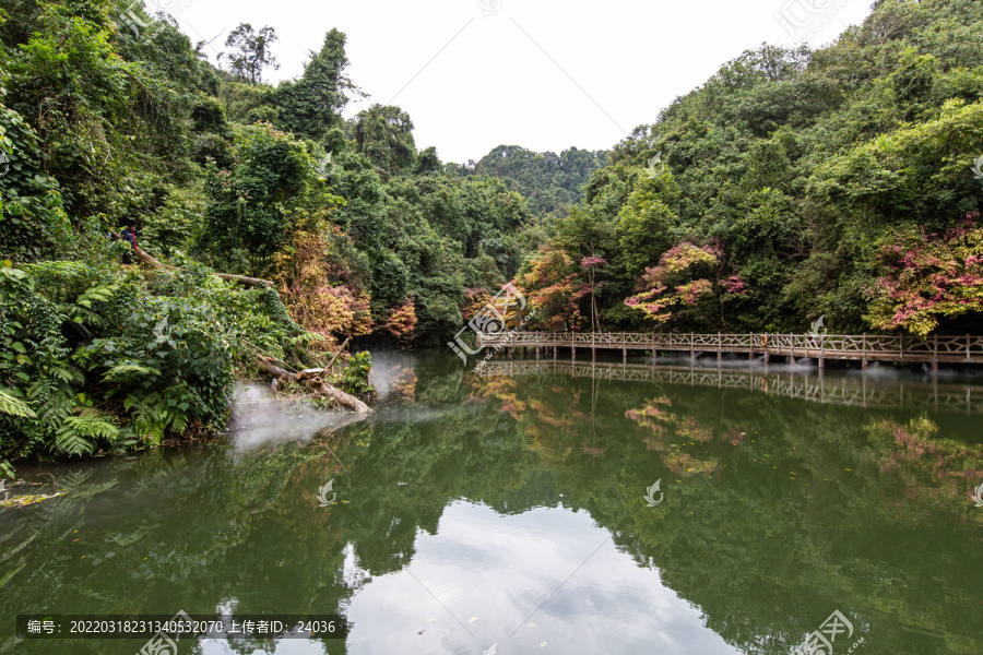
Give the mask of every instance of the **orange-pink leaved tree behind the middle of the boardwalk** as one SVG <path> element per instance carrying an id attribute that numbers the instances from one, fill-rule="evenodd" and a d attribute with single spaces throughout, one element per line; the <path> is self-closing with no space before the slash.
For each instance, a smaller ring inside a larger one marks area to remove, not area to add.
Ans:
<path id="1" fill-rule="evenodd" d="M 625 305 L 641 311 L 656 324 L 665 324 L 723 295 L 741 295 L 747 288 L 739 275 L 720 278 L 722 251 L 716 242 L 698 247 L 684 241 L 666 251 L 659 265 L 647 267 L 636 294 Z"/>

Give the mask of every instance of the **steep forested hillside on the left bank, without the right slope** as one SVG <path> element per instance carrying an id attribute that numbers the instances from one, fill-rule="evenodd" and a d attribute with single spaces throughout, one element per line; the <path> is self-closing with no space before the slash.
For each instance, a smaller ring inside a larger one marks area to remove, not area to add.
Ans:
<path id="1" fill-rule="evenodd" d="M 220 70 L 128 8 L 0 14 L 8 469 L 222 428 L 260 354 L 307 368 L 347 336 L 439 343 L 541 238 L 519 193 L 448 176 L 398 107 L 342 118 L 359 91 L 340 32 L 271 86 L 273 27 L 239 25 Z M 129 226 L 159 265 L 122 263 Z M 336 383 L 360 389 L 356 365 Z"/>

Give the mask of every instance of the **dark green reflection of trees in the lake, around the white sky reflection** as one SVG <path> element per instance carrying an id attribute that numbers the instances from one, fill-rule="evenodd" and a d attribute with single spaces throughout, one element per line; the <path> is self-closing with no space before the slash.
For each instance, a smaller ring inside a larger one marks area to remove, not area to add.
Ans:
<path id="1" fill-rule="evenodd" d="M 983 481 L 983 446 L 966 417 L 746 390 L 477 378 L 440 359 L 403 376 L 415 404 L 308 443 L 51 469 L 68 493 L 0 513 L 7 612 L 344 614 L 465 498 L 504 514 L 588 511 L 745 653 L 786 654 L 833 609 L 872 654 L 979 652 L 983 511 L 966 493 Z M 324 508 L 317 495 L 329 479 L 337 500 Z M 664 501 L 649 508 L 659 479 Z M 19 653 L 93 647 L 0 634 Z M 123 641 L 92 652 L 137 650 Z"/>

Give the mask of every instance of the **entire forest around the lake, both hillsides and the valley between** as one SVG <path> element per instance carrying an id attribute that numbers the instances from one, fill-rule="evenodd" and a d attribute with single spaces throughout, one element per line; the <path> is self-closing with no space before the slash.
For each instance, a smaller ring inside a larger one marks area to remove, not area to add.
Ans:
<path id="1" fill-rule="evenodd" d="M 399 107 L 343 118 L 336 29 L 272 85 L 275 26 L 215 68 L 115 0 L 0 21 L 0 464 L 221 428 L 257 352 L 442 345 L 510 279 L 550 330 L 979 332 L 973 0 L 748 51 L 611 152 L 464 166 Z M 122 263 L 131 224 L 163 265 Z"/>

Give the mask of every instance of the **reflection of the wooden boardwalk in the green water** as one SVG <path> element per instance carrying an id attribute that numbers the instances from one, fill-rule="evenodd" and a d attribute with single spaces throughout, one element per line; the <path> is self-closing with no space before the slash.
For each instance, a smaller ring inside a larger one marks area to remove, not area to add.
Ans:
<path id="1" fill-rule="evenodd" d="M 761 393 L 801 398 L 830 405 L 857 407 L 901 407 L 944 409 L 966 414 L 983 414 L 983 393 L 972 384 L 939 384 L 910 380 L 878 380 L 868 382 L 867 376 L 803 374 L 795 371 L 768 371 L 762 367 L 683 367 L 609 361 L 487 361 L 478 373 L 482 377 L 570 376 L 623 382 L 656 382 L 744 389 Z M 975 393 L 974 393 L 975 392 Z"/>

